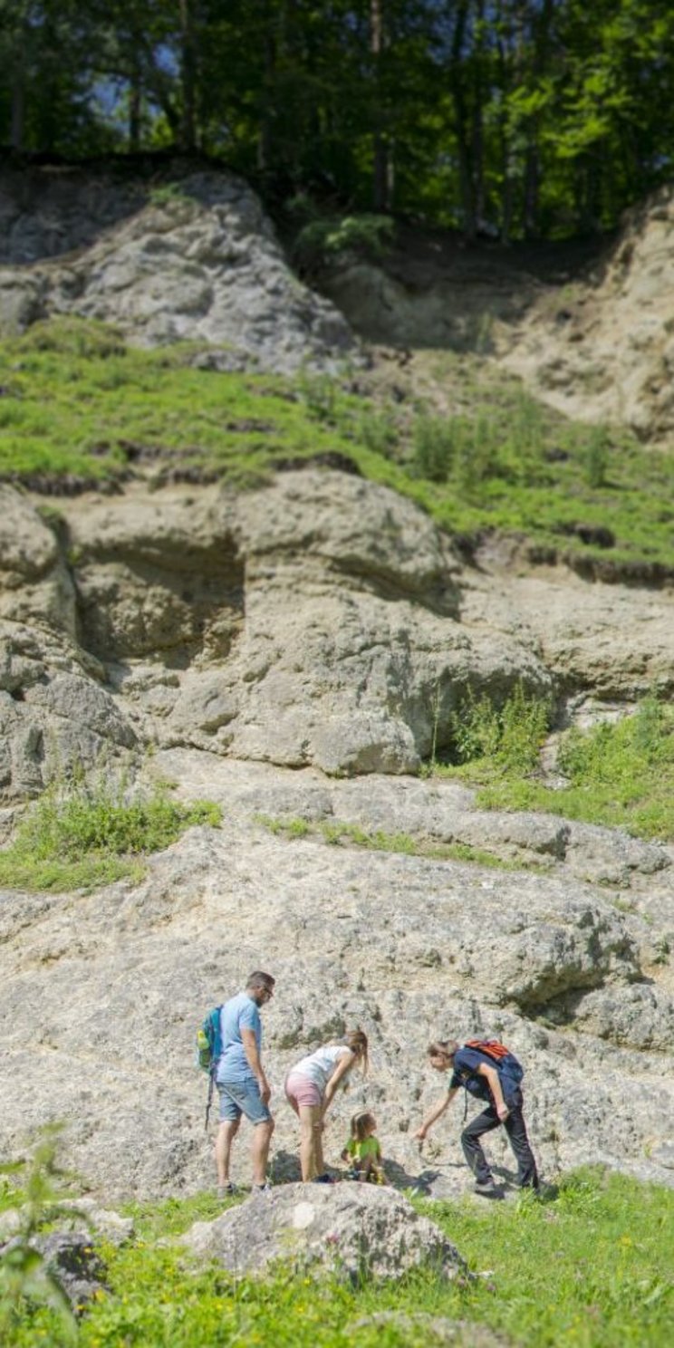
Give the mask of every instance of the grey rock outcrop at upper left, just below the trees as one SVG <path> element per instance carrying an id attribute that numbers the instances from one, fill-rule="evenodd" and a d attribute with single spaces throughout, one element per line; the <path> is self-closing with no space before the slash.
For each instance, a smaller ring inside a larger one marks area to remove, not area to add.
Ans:
<path id="1" fill-rule="evenodd" d="M 0 177 L 0 330 L 77 314 L 139 345 L 194 341 L 209 368 L 334 365 L 342 315 L 288 270 L 239 178 L 185 173 L 154 187 L 74 168 Z"/>

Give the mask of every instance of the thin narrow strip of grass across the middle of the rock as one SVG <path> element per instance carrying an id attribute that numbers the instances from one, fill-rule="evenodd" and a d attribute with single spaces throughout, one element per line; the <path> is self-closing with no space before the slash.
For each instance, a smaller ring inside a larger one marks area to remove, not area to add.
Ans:
<path id="1" fill-rule="evenodd" d="M 474 865 L 491 865 L 500 871 L 531 869 L 531 863 L 506 860 L 487 848 L 472 847 L 469 842 L 433 842 L 430 838 L 414 838 L 410 833 L 361 829 L 359 824 L 346 824 L 341 820 L 322 820 L 318 824 L 310 824 L 302 818 L 283 820 L 257 814 L 256 822 L 282 837 L 321 837 L 332 847 L 359 847 L 372 852 L 426 856 L 434 861 L 470 861 Z M 541 864 L 545 865 L 545 863 Z"/>

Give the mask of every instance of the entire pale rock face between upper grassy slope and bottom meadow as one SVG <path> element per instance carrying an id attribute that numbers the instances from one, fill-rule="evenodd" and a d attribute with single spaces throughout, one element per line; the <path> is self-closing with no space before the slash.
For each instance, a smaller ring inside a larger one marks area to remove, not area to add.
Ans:
<path id="1" fill-rule="evenodd" d="M 3 895 L 0 1150 L 65 1117 L 92 1186 L 202 1188 L 195 1023 L 262 967 L 278 977 L 278 1174 L 295 1173 L 284 1070 L 359 1022 L 373 1070 L 340 1103 L 333 1159 L 367 1101 L 394 1177 L 464 1186 L 458 1116 L 423 1158 L 410 1132 L 439 1085 L 427 1039 L 484 1033 L 526 1061 L 547 1171 L 604 1158 L 671 1182 L 670 849 L 485 814 L 410 775 L 468 682 L 554 687 L 570 714 L 669 689 L 669 592 L 465 568 L 411 503 L 342 473 L 239 496 L 137 484 L 67 500 L 51 524 L 1 491 L 7 828 L 54 763 L 150 745 L 143 771 L 220 801 L 224 824 L 190 830 L 140 886 Z M 288 841 L 260 814 L 488 844 L 520 869 Z"/>

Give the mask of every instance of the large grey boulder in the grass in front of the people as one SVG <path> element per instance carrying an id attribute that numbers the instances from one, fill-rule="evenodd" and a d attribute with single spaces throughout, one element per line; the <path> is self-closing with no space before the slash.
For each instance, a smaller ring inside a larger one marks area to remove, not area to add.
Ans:
<path id="1" fill-rule="evenodd" d="M 236 1274 L 263 1274 L 276 1262 L 318 1266 L 341 1281 L 400 1278 L 433 1268 L 466 1273 L 439 1227 L 395 1189 L 290 1184 L 255 1194 L 216 1221 L 198 1221 L 185 1244 Z"/>

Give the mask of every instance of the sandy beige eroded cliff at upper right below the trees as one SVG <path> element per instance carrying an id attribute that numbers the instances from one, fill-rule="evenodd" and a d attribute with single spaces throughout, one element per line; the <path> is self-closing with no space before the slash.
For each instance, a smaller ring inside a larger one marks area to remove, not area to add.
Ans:
<path id="1" fill-rule="evenodd" d="M 559 249 L 400 251 L 383 266 L 350 262 L 325 291 L 372 341 L 481 352 L 520 375 L 542 402 L 588 422 L 674 431 L 674 198 L 663 189 L 628 212 L 590 262 Z"/>

